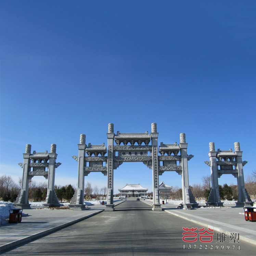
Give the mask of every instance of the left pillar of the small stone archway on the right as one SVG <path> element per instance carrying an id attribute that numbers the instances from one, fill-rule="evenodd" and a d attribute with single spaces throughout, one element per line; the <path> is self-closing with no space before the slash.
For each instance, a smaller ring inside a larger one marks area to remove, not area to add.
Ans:
<path id="1" fill-rule="evenodd" d="M 218 166 L 217 166 L 217 151 L 215 151 L 214 142 L 209 143 L 210 152 L 208 153 L 210 162 L 205 163 L 211 168 L 211 178 L 212 178 L 212 189 L 210 195 L 208 196 L 208 201 L 206 206 L 223 206 L 219 195 L 219 182 L 218 182 Z"/>

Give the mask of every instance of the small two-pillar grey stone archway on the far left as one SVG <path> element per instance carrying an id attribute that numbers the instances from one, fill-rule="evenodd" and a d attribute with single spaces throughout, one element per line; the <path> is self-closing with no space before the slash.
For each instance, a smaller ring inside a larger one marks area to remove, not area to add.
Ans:
<path id="1" fill-rule="evenodd" d="M 26 152 L 23 154 L 24 162 L 19 163 L 23 168 L 22 184 L 19 195 L 13 204 L 17 208 L 29 209 L 28 203 L 28 183 L 34 176 L 44 176 L 48 179 L 47 183 L 47 197 L 45 207 L 59 207 L 60 203 L 54 191 L 55 168 L 59 167 L 61 163 L 56 163 L 56 144 L 51 144 L 51 153 L 36 152 L 31 154 L 31 145 L 26 145 Z M 32 161 L 32 163 L 31 163 Z M 48 162 L 49 161 L 49 162 Z M 32 168 L 32 171 L 31 171 Z M 46 170 L 47 168 L 47 170 Z"/>

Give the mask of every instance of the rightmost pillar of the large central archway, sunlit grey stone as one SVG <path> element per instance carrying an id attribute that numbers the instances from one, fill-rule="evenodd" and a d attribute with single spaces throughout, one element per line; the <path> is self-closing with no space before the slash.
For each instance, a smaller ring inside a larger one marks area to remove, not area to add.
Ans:
<path id="1" fill-rule="evenodd" d="M 182 166 L 182 200 L 181 208 L 183 209 L 193 209 L 198 206 L 195 201 L 191 190 L 189 189 L 189 170 L 188 170 L 188 154 L 187 148 L 188 143 L 186 143 L 185 133 L 180 133 L 180 155 L 181 155 L 181 166 Z"/>

